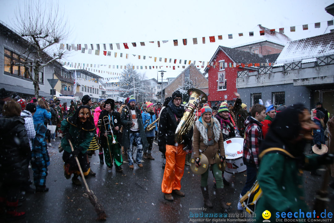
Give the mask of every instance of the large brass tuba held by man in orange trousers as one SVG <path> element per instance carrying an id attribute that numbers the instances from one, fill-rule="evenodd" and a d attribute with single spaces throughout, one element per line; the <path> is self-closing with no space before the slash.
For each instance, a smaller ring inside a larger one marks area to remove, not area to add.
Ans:
<path id="1" fill-rule="evenodd" d="M 208 97 L 206 96 L 206 94 L 197 88 L 190 88 L 188 90 L 188 95 L 190 96 L 189 105 L 186 106 L 187 109 L 183 113 L 181 121 L 178 124 L 176 131 L 175 131 L 175 141 L 179 144 L 183 142 L 182 135 L 188 133 L 189 130 L 191 129 L 191 126 L 194 124 L 195 108 L 197 107 L 199 103 L 205 103 L 208 100 Z"/>

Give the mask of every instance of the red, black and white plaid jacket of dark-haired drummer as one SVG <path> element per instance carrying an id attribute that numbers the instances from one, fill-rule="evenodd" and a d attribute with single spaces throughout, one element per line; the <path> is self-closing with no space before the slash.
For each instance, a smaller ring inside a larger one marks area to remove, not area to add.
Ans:
<path id="1" fill-rule="evenodd" d="M 243 163 L 259 169 L 259 148 L 263 139 L 262 124 L 255 118 L 247 117 L 244 126 L 246 129 L 243 142 Z"/>

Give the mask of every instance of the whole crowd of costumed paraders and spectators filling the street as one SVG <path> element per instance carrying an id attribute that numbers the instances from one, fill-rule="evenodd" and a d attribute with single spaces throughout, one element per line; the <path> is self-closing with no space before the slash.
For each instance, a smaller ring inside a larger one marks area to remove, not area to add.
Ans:
<path id="1" fill-rule="evenodd" d="M 182 135 L 183 141 L 177 143 L 175 132 L 189 106 L 182 102 L 179 91 L 167 97 L 163 104 L 158 102 L 156 105 L 152 102 L 138 104 L 133 96 L 126 101 L 107 99 L 98 103 L 85 95 L 81 101 L 71 101 L 67 106 L 56 98 L 12 99 L 10 92 L 0 89 L 0 214 L 5 213 L 7 220 L 23 218 L 25 212 L 16 208 L 24 200 L 24 193 L 48 191 L 48 146 L 56 137 L 61 140 L 59 152 L 63 152 L 64 177 L 72 178 L 73 185 L 77 186 L 81 185 L 79 176 L 96 176 L 90 168 L 90 157 L 96 150 L 101 165 L 106 164 L 109 172 L 115 165 L 116 172 L 121 173 L 124 161 L 132 170 L 135 164 L 144 168 L 143 158 L 151 161 L 158 158 L 152 155 L 153 141 L 157 140 L 164 160 L 161 190 L 168 201 L 173 201 L 173 196 L 185 196 L 181 191 L 185 165 L 190 165 L 193 156 L 196 168 L 203 166 L 200 160 L 203 154 L 209 166 L 200 180 L 204 205 L 208 208 L 216 205 L 209 198 L 208 176 L 211 171 L 218 205 L 223 212 L 229 209 L 224 190 L 229 182 L 221 168 L 226 161 L 224 141 L 242 137 L 242 160 L 247 177 L 240 198 L 258 180 L 263 196 L 255 210 L 257 216 L 264 210 L 272 213 L 294 212 L 301 207 L 307 210 L 302 199 L 299 170 L 318 175 L 315 170 L 320 165 L 333 163 L 333 118 L 329 118 L 321 102 L 316 104 L 312 114 L 302 104 L 254 104 L 248 112 L 240 95 L 234 94 L 236 100 L 230 104 L 221 102 L 212 107 L 206 103 L 196 104 L 194 124 Z M 329 152 L 305 154 L 308 142 L 321 150 L 327 140 L 330 141 Z M 29 180 L 29 164 L 33 181 Z M 330 186 L 334 189 L 334 183 Z M 292 194 L 300 196 L 289 196 Z M 292 199 L 294 197 L 298 198 Z M 237 213 L 243 209 L 239 202 Z"/>

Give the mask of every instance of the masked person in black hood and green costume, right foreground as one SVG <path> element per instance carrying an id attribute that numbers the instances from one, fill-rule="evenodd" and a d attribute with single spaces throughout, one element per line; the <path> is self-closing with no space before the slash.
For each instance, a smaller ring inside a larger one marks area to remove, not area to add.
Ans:
<path id="1" fill-rule="evenodd" d="M 330 164 L 334 157 L 330 153 L 304 155 L 307 142 L 312 140 L 312 129 L 317 128 L 303 104 L 294 104 L 276 114 L 260 147 L 258 182 L 263 195 L 255 208 L 258 221 L 264 220 L 262 213 L 266 210 L 271 213 L 271 222 L 282 212 L 291 218 L 307 218 L 310 210 L 305 203 L 302 170 Z"/>

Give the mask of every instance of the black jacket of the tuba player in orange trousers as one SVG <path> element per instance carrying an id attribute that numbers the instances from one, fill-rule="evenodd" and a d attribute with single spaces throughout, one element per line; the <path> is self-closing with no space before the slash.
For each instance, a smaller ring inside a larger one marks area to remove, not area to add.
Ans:
<path id="1" fill-rule="evenodd" d="M 160 113 L 159 128 L 158 128 L 158 145 L 175 145 L 175 131 L 177 128 L 177 120 L 169 106 L 164 108 Z M 182 136 L 185 145 L 191 144 L 193 128 Z"/>

